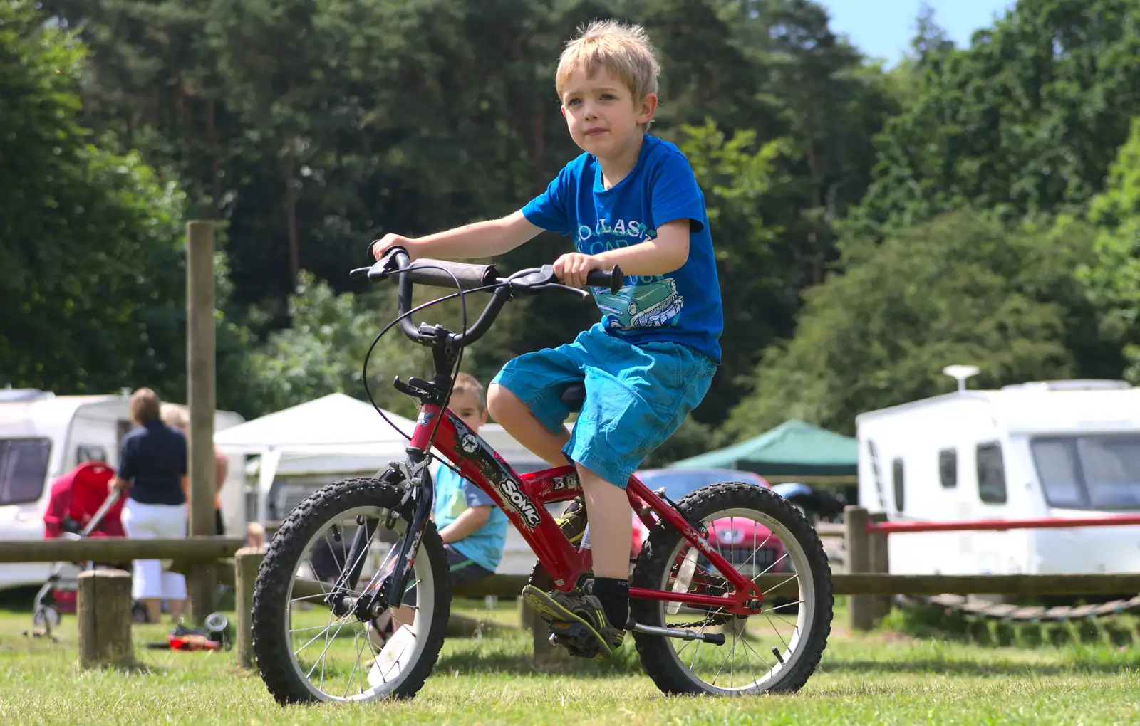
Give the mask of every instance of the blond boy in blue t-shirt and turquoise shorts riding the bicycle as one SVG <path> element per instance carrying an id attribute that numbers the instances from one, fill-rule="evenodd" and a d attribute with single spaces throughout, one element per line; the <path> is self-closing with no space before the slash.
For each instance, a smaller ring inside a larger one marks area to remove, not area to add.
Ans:
<path id="1" fill-rule="evenodd" d="M 502 255 L 543 230 L 573 236 L 554 263 L 565 284 L 619 265 L 617 295 L 594 289 L 605 313 L 573 343 L 508 362 L 491 381 L 488 407 L 519 443 L 552 465 L 578 470 L 591 522 L 591 594 L 523 596 L 551 621 L 580 622 L 612 652 L 629 612 L 632 519 L 625 487 L 642 460 L 681 426 L 708 391 L 720 360 L 720 289 L 705 198 L 671 143 L 648 133 L 659 65 L 645 31 L 594 22 L 562 52 L 555 86 L 570 137 L 584 154 L 522 209 L 503 218 L 373 247 L 410 258 Z M 573 434 L 562 391 L 584 383 Z"/>

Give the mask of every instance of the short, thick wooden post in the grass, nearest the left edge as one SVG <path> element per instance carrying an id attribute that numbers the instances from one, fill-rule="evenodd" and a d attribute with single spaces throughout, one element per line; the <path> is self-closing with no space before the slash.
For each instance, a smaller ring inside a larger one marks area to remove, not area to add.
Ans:
<path id="1" fill-rule="evenodd" d="M 81 572 L 75 610 L 79 620 L 79 662 L 82 668 L 125 668 L 135 662 L 129 572 Z"/>

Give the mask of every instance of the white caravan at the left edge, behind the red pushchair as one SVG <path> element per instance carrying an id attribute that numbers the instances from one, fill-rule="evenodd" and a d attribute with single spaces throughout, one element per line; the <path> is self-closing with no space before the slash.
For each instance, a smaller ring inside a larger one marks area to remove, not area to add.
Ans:
<path id="1" fill-rule="evenodd" d="M 85 461 L 119 465 L 131 430 L 129 395 L 56 396 L 36 389 L 0 390 L 0 539 L 43 538 L 43 512 L 55 479 Z M 242 422 L 219 411 L 215 430 Z M 221 492 L 227 531 L 245 531 L 244 476 L 233 459 Z M 39 585 L 49 563 L 0 564 L 0 588 Z"/>

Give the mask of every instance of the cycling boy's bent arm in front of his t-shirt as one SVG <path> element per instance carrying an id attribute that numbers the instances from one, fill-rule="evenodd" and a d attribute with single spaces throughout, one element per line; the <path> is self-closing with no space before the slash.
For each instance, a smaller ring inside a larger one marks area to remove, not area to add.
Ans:
<path id="1" fill-rule="evenodd" d="M 687 218 L 674 220 L 658 228 L 656 239 L 596 255 L 562 255 L 554 262 L 554 272 L 571 287 L 586 284 L 586 273 L 591 270 L 609 270 L 613 265 L 620 265 L 626 275 L 668 274 L 689 259 L 689 230 Z"/>

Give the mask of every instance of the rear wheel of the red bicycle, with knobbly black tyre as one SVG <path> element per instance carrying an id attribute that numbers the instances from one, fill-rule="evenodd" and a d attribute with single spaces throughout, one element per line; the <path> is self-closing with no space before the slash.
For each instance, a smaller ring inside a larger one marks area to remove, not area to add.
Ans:
<path id="1" fill-rule="evenodd" d="M 630 600 L 636 622 L 708 633 L 720 628 L 724 645 L 634 633 L 645 673 L 666 693 L 741 695 L 788 693 L 803 687 L 820 662 L 831 632 L 831 570 L 815 530 L 795 506 L 769 489 L 725 482 L 702 487 L 677 504 L 690 522 L 746 577 L 777 575 L 791 597 L 769 599 L 763 610 L 738 617 L 652 600 Z M 665 523 L 653 528 L 637 556 L 634 587 L 724 595 L 732 586 Z"/>

